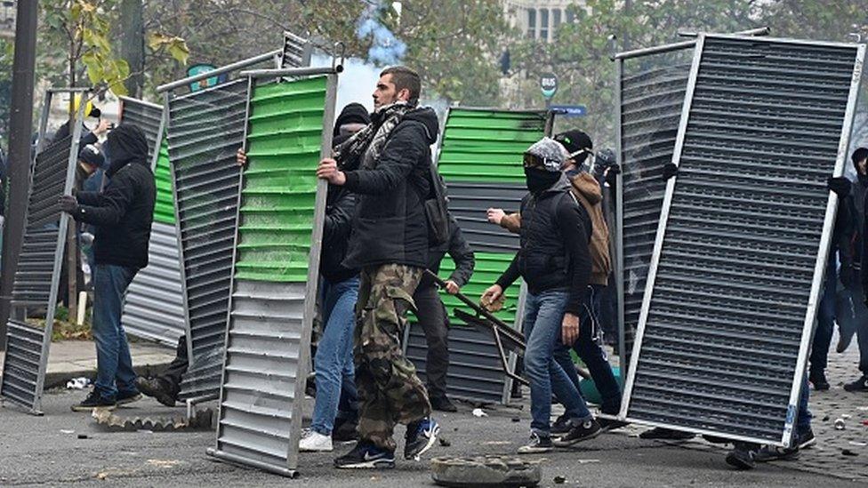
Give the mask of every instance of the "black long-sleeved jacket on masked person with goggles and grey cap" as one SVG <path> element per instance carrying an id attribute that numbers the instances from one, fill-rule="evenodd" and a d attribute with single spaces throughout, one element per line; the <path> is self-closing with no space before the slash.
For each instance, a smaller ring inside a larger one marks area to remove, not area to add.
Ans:
<path id="1" fill-rule="evenodd" d="M 521 248 L 497 284 L 506 290 L 521 276 L 534 294 L 565 289 L 565 311 L 578 315 L 591 278 L 592 231 L 566 177 L 539 195 L 527 194 L 521 200 Z"/>

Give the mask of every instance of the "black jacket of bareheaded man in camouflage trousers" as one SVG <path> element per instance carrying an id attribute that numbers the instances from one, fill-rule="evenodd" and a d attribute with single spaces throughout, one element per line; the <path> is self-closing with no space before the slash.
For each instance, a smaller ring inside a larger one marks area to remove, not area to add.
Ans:
<path id="1" fill-rule="evenodd" d="M 346 173 L 345 188 L 358 201 L 345 266 L 428 266 L 423 202 L 430 193 L 430 145 L 438 131 L 433 109 L 407 112 L 390 133 L 376 166 Z"/>

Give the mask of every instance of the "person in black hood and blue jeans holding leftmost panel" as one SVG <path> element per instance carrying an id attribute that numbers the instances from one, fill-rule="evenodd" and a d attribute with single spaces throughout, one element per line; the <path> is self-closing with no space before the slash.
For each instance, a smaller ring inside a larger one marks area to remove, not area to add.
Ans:
<path id="1" fill-rule="evenodd" d="M 109 132 L 104 148 L 109 183 L 99 193 L 61 196 L 60 210 L 94 226 L 92 332 L 97 351 L 93 390 L 74 411 L 114 408 L 138 400 L 136 373 L 121 325 L 127 286 L 148 266 L 148 243 L 157 190 L 148 162 L 148 141 L 133 124 Z"/>

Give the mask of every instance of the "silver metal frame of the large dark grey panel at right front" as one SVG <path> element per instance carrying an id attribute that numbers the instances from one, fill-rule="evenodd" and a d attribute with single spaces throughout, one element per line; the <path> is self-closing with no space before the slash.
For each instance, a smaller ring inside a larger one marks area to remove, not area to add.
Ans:
<path id="1" fill-rule="evenodd" d="M 673 156 L 673 163 L 679 164 L 680 159 L 682 157 L 682 151 L 685 146 L 685 139 L 687 137 L 687 125 L 689 123 L 689 116 L 691 114 L 691 106 L 692 101 L 694 99 L 695 87 L 697 84 L 697 74 L 699 73 L 699 68 L 701 61 L 703 59 L 703 47 L 706 42 L 706 39 L 711 39 L 714 41 L 717 40 L 733 40 L 733 41 L 751 41 L 752 43 L 767 43 L 767 44 L 784 44 L 788 46 L 807 46 L 808 48 L 846 48 L 853 50 L 855 54 L 855 60 L 853 64 L 853 76 L 850 79 L 849 85 L 849 94 L 848 100 L 846 104 L 846 108 L 844 111 L 844 116 L 841 124 L 840 138 L 837 150 L 837 158 L 835 161 L 833 174 L 840 175 L 843 170 L 843 165 L 845 158 L 847 156 L 848 149 L 848 138 L 850 135 L 851 124 L 852 124 L 852 116 L 853 111 L 856 105 L 856 92 L 858 85 L 860 83 L 863 62 L 864 62 L 864 52 L 865 46 L 864 44 L 840 44 L 840 43 L 815 43 L 808 41 L 799 41 L 793 39 L 762 39 L 757 40 L 755 38 L 744 37 L 744 36 L 735 36 L 735 35 L 700 35 L 697 38 L 697 45 L 695 50 L 695 57 L 693 66 L 691 68 L 691 76 L 690 82 L 687 86 L 687 97 L 686 102 L 683 108 L 682 117 L 679 126 L 679 136 L 676 142 L 676 150 Z M 748 59 L 748 58 L 745 58 Z M 626 387 L 624 388 L 624 402 L 622 411 L 619 414 L 619 418 L 629 421 L 634 421 L 641 424 L 656 426 L 656 427 L 666 427 L 666 428 L 677 428 L 679 430 L 685 430 L 688 432 L 694 432 L 697 434 L 709 434 L 713 436 L 726 436 L 727 438 L 732 438 L 735 440 L 741 440 L 745 442 L 753 442 L 760 444 L 775 444 L 782 445 L 784 447 L 788 447 L 792 443 L 792 434 L 793 434 L 793 422 L 795 420 L 795 411 L 796 405 L 798 404 L 798 399 L 801 393 L 801 384 L 802 384 L 802 375 L 805 372 L 806 364 L 808 361 L 808 349 L 810 347 L 811 342 L 811 332 L 813 330 L 814 319 L 816 316 L 816 306 L 818 295 L 820 289 L 823 285 L 824 281 L 824 268 L 826 256 L 828 255 L 829 246 L 831 242 L 831 231 L 833 226 L 833 220 L 835 217 L 836 209 L 837 209 L 837 197 L 832 194 L 829 196 L 828 202 L 826 204 L 825 212 L 824 212 L 824 225 L 823 225 L 823 234 L 819 241 L 819 249 L 816 254 L 816 264 L 813 268 L 813 279 L 811 281 L 809 298 L 808 298 L 808 308 L 805 311 L 805 318 L 802 325 L 802 330 L 800 334 L 800 345 L 799 345 L 799 354 L 796 359 L 796 365 L 792 374 L 792 389 L 790 390 L 789 395 L 789 403 L 786 408 L 786 416 L 784 418 L 784 428 L 782 431 L 782 435 L 780 440 L 772 439 L 772 438 L 763 438 L 760 436 L 751 436 L 751 435 L 735 435 L 728 432 L 720 432 L 711 428 L 695 428 L 695 427 L 686 427 L 683 425 L 673 425 L 667 422 L 660 421 L 649 421 L 647 419 L 639 419 L 635 416 L 632 416 L 630 413 L 630 403 L 631 396 L 633 394 L 633 389 L 636 387 L 635 380 L 637 375 L 637 367 L 640 360 L 640 352 L 642 341 L 644 339 L 644 335 L 647 328 L 648 316 L 651 307 L 652 294 L 654 292 L 655 280 L 658 272 L 658 267 L 661 260 L 661 254 L 663 252 L 664 245 L 664 236 L 666 233 L 666 224 L 669 220 L 670 209 L 672 204 L 672 199 L 674 195 L 675 185 L 677 183 L 678 176 L 674 179 L 671 179 L 667 184 L 666 196 L 663 206 L 663 212 L 661 214 L 661 222 L 657 231 L 657 236 L 655 239 L 655 251 L 653 255 L 653 259 L 651 262 L 651 268 L 649 270 L 648 280 L 646 292 L 643 300 L 642 312 L 639 319 L 639 330 L 637 333 L 637 340 L 634 343 L 633 354 L 631 356 L 631 369 L 627 379 Z"/>

